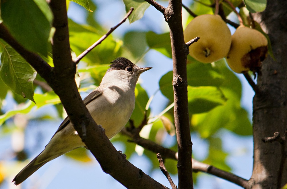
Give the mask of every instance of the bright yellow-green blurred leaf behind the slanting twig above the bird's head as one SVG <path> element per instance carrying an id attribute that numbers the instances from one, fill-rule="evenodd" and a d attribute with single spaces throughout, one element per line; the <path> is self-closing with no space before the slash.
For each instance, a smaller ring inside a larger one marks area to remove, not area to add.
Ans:
<path id="1" fill-rule="evenodd" d="M 69 20 L 69 34 L 71 49 L 80 55 L 99 38 L 103 33 L 92 26 L 80 25 Z M 121 54 L 122 41 L 116 42 L 108 36 L 100 45 L 90 51 L 82 60 L 93 64 L 107 64 Z"/>

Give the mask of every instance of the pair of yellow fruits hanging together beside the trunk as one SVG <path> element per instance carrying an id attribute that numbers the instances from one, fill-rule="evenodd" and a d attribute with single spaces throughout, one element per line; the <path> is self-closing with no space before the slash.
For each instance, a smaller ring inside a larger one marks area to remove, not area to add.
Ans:
<path id="1" fill-rule="evenodd" d="M 255 29 L 239 26 L 231 36 L 219 15 L 204 14 L 195 17 L 185 28 L 185 42 L 199 36 L 190 46 L 189 54 L 203 63 L 226 57 L 229 67 L 236 73 L 257 70 L 267 55 L 267 39 Z"/>

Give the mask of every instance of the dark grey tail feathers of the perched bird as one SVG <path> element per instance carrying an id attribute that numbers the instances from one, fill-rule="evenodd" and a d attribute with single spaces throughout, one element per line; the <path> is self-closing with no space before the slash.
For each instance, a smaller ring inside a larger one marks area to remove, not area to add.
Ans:
<path id="1" fill-rule="evenodd" d="M 26 167 L 24 167 L 24 169 L 22 169 L 22 171 L 20 171 L 15 176 L 15 178 L 12 181 L 12 182 L 14 182 L 15 185 L 18 185 L 21 182 L 23 182 L 24 180 L 26 180 L 28 177 L 30 177 L 30 175 L 32 175 L 35 171 L 37 171 L 40 167 L 42 167 L 45 163 L 48 162 L 48 161 L 43 161 L 39 164 L 35 164 L 35 161 L 37 160 L 38 156 L 35 157 L 28 165 L 26 165 Z"/>

